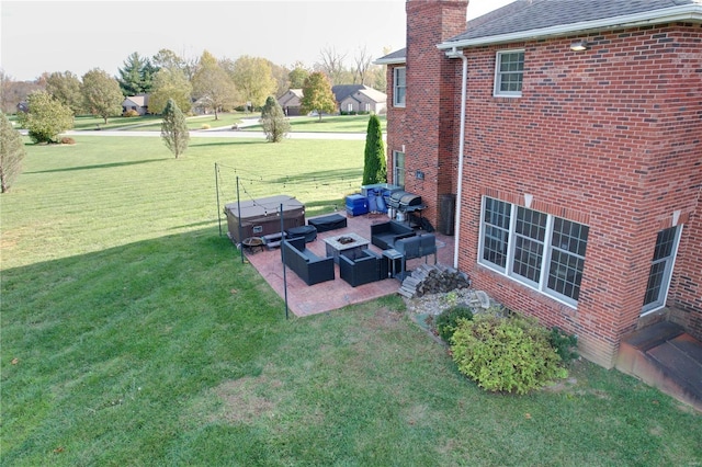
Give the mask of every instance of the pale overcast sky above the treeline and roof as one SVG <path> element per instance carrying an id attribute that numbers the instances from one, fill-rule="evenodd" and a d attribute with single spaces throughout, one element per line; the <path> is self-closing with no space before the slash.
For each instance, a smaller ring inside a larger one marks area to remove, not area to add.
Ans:
<path id="1" fill-rule="evenodd" d="M 469 0 L 468 19 L 513 0 Z M 0 68 L 13 80 L 44 71 L 116 76 L 133 53 L 248 55 L 312 67 L 322 49 L 353 64 L 405 47 L 405 0 L 0 1 Z"/>

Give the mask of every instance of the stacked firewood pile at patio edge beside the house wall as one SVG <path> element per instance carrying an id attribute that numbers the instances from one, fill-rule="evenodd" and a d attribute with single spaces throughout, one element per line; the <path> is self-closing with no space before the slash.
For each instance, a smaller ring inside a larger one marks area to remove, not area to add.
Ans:
<path id="1" fill-rule="evenodd" d="M 407 298 L 415 298 L 469 286 L 471 278 L 465 273 L 441 264 L 421 264 L 405 277 L 397 293 Z"/>

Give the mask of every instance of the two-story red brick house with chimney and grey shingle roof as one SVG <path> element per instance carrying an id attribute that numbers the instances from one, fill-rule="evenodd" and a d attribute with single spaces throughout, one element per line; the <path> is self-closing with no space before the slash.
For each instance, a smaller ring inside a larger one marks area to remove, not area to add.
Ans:
<path id="1" fill-rule="evenodd" d="M 408 0 L 387 65 L 388 182 L 455 266 L 615 365 L 656 320 L 702 340 L 701 0 Z M 421 176 L 420 176 L 421 175 Z"/>

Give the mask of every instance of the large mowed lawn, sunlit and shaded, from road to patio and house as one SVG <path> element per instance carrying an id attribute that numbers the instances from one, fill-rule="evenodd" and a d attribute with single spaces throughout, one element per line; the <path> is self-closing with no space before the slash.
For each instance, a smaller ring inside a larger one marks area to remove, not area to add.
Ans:
<path id="1" fill-rule="evenodd" d="M 239 175 L 312 215 L 356 190 L 362 141 L 193 138 L 176 160 L 158 138 L 76 139 L 27 146 L 0 197 L 1 465 L 702 458 L 699 414 L 586 362 L 559 390 L 483 392 L 397 296 L 285 320 L 219 235 L 215 162 L 227 202 Z"/>

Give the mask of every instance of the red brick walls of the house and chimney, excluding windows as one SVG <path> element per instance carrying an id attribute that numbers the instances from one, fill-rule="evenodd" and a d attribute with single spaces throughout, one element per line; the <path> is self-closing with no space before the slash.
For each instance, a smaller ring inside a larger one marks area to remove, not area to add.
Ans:
<path id="1" fill-rule="evenodd" d="M 426 10 L 439 4 L 407 3 L 407 107 L 388 111 L 388 153 L 406 145 L 407 190 L 434 216 L 438 194 L 455 190 L 461 98 L 461 60 L 437 50 L 439 15 Z M 584 53 L 570 52 L 576 38 L 466 52 L 460 267 L 509 308 L 578 334 L 581 353 L 611 367 L 641 314 L 656 234 L 673 212 L 684 227 L 668 305 L 687 310 L 693 332 L 702 328 L 702 29 L 590 34 Z M 525 50 L 522 96 L 494 98 L 496 52 L 510 48 Z M 533 209 L 590 227 L 577 309 L 477 264 L 486 194 L 518 204 L 531 194 Z"/>

